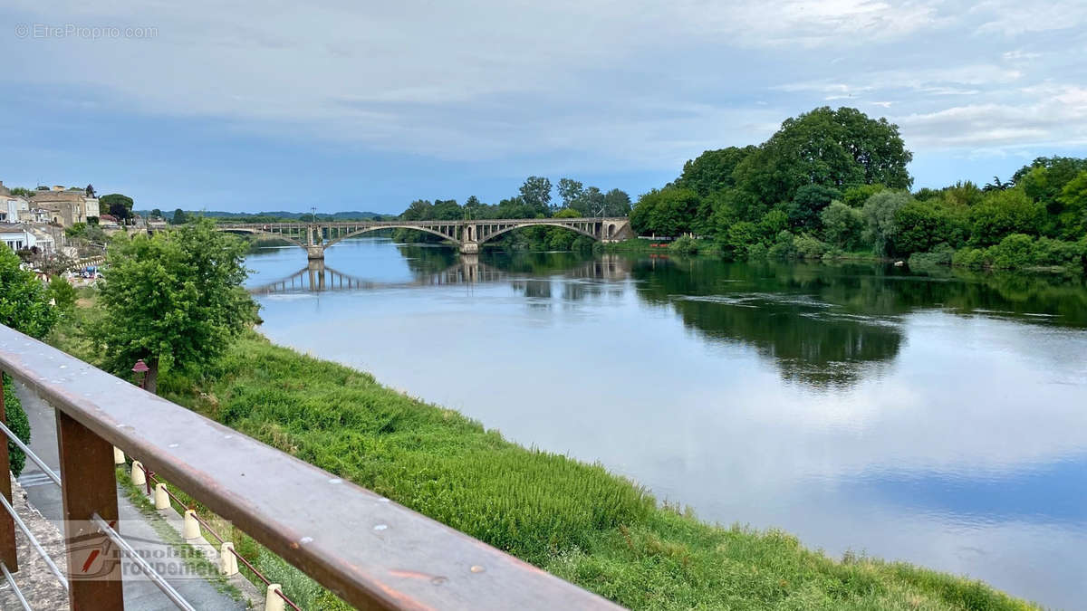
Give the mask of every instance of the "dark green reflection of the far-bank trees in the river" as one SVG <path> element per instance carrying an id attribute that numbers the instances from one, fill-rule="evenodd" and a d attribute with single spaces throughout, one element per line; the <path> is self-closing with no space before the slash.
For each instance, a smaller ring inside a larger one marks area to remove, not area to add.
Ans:
<path id="1" fill-rule="evenodd" d="M 638 295 L 674 309 L 715 339 L 754 346 L 786 379 L 848 386 L 897 357 L 900 316 L 925 309 L 1087 326 L 1082 279 L 1026 275 L 911 275 L 873 265 L 646 260 Z"/>

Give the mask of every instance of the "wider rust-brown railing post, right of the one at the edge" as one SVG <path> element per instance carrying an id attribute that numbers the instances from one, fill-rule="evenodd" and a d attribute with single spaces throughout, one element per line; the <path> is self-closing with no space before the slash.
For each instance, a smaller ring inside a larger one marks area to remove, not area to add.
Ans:
<path id="1" fill-rule="evenodd" d="M 113 446 L 60 410 L 57 442 L 63 483 L 68 601 L 73 611 L 124 609 L 121 552 L 91 521 L 97 513 L 121 529 Z"/>

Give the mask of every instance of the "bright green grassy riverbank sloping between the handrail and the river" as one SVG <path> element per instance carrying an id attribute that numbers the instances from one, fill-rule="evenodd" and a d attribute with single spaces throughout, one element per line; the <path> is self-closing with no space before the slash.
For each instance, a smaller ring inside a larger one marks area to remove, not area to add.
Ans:
<path id="1" fill-rule="evenodd" d="M 93 361 L 71 326 L 53 341 Z M 163 372 L 160 392 L 635 609 L 1029 608 L 979 582 L 699 522 L 600 465 L 255 333 L 203 379 Z"/>

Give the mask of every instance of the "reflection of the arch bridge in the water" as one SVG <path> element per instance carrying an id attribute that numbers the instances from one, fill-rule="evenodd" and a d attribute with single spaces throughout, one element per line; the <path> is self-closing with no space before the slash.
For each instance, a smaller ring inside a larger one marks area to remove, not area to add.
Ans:
<path id="1" fill-rule="evenodd" d="M 576 267 L 564 270 L 562 275 L 571 279 L 623 280 L 630 273 L 630 264 L 614 255 L 587 261 Z M 253 295 L 272 295 L 278 292 L 303 292 L 325 290 L 378 290 L 395 288 L 412 288 L 442 285 L 471 285 L 518 280 L 532 277 L 528 273 L 516 273 L 499 270 L 487 263 L 480 263 L 479 258 L 462 254 L 460 261 L 438 272 L 421 272 L 415 279 L 401 283 L 383 283 L 367 280 L 345 274 L 328 265 L 321 259 L 310 260 L 305 267 L 277 280 L 249 288 Z"/>

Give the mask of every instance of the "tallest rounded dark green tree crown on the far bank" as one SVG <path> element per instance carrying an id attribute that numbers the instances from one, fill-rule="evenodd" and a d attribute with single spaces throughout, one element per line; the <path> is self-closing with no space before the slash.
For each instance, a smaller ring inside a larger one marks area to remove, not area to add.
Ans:
<path id="1" fill-rule="evenodd" d="M 790 201 L 803 185 L 847 189 L 883 184 L 905 189 L 913 154 L 886 119 L 857 109 L 817 108 L 787 119 L 759 150 L 735 170 L 737 185 L 766 203 Z"/>

